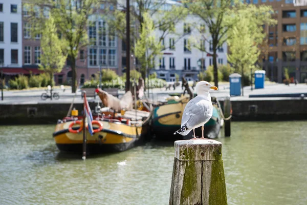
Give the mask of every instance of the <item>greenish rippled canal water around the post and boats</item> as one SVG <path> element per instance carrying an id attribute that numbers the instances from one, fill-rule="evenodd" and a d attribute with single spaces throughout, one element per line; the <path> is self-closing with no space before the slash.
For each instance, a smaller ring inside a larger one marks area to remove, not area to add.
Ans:
<path id="1" fill-rule="evenodd" d="M 54 126 L 0 126 L 0 204 L 168 204 L 173 142 L 90 156 L 57 150 Z M 307 204 L 307 121 L 233 122 L 228 204 Z"/>

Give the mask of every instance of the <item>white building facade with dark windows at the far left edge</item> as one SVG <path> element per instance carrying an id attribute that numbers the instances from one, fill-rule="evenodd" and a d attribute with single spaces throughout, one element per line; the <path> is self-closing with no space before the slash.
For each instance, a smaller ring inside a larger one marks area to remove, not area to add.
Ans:
<path id="1" fill-rule="evenodd" d="M 23 66 L 21 0 L 0 0 L 0 68 Z"/>

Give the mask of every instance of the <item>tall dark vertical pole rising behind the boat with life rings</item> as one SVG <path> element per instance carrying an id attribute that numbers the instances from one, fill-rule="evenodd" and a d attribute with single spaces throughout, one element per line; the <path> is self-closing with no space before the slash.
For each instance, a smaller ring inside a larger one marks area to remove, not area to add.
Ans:
<path id="1" fill-rule="evenodd" d="M 130 3 L 126 0 L 126 92 L 130 90 Z"/>

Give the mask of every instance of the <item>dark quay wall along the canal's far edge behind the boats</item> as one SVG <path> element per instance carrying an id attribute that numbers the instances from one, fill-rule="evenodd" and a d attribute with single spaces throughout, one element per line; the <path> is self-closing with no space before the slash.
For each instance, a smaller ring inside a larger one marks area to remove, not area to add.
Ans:
<path id="1" fill-rule="evenodd" d="M 92 110 L 97 104 L 89 103 Z M 307 119 L 306 99 L 242 100 L 231 101 L 233 121 L 300 120 Z M 223 106 L 223 101 L 221 101 Z M 74 104 L 82 111 L 82 104 Z M 0 105 L 0 125 L 56 124 L 67 115 L 70 104 Z"/>

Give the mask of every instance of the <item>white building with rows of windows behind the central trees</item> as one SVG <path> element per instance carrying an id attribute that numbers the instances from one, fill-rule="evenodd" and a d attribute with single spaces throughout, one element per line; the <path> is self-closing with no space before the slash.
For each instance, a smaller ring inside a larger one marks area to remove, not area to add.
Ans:
<path id="1" fill-rule="evenodd" d="M 205 32 L 200 32 L 200 28 Z M 160 38 L 162 33 L 163 31 L 156 30 L 157 38 Z M 150 72 L 156 72 L 158 78 L 166 81 L 175 81 L 175 74 L 179 75 L 180 80 L 182 76 L 187 80 L 196 80 L 201 70 L 213 66 L 212 41 L 208 29 L 198 17 L 189 15 L 176 25 L 175 33 L 164 37 L 162 45 L 165 50 L 162 51 L 163 55 L 156 59 L 155 68 Z M 227 64 L 226 43 L 218 48 L 216 61 L 218 65 Z"/>

